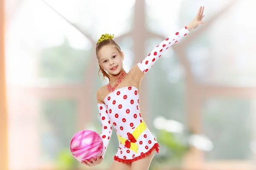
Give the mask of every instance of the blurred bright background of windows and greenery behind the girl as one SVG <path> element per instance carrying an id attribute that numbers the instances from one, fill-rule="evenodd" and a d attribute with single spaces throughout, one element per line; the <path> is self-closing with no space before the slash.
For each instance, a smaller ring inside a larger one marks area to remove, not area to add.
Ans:
<path id="1" fill-rule="evenodd" d="M 0 170 L 89 168 L 70 153 L 79 130 L 101 132 L 95 55 L 114 34 L 125 71 L 205 6 L 204 26 L 143 78 L 140 108 L 160 144 L 151 170 L 256 169 L 252 0 L 0 0 Z M 150 92 L 150 93 L 149 93 Z"/>

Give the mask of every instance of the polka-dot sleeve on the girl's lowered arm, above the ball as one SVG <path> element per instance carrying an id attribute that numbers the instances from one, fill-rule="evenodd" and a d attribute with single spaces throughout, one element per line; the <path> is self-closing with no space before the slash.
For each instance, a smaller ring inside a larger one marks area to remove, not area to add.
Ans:
<path id="1" fill-rule="evenodd" d="M 102 141 L 104 145 L 103 153 L 102 153 L 102 158 L 104 159 L 104 156 L 108 147 L 108 143 L 112 135 L 112 126 L 111 126 L 110 118 L 108 116 L 108 110 L 106 105 L 98 103 L 98 108 L 99 108 L 99 116 L 102 123 L 102 133 L 100 136 L 102 137 Z"/>

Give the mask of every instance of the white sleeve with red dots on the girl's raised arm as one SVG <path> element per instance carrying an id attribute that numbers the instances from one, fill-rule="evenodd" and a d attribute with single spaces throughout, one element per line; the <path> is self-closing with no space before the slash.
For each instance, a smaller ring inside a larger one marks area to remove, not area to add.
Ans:
<path id="1" fill-rule="evenodd" d="M 171 35 L 170 37 L 163 40 L 159 45 L 157 45 L 143 61 L 137 63 L 132 69 L 131 74 L 137 82 L 140 82 L 142 77 L 148 70 L 154 65 L 154 63 L 161 57 L 164 51 L 166 51 L 170 46 L 179 42 L 186 34 L 189 34 L 189 30 L 186 27 L 180 29 L 180 31 Z M 140 73 L 140 71 L 142 73 Z"/>

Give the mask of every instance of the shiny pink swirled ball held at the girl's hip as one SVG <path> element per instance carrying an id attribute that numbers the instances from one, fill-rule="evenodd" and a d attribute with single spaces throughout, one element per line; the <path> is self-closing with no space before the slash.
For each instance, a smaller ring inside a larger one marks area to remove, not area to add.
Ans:
<path id="1" fill-rule="evenodd" d="M 71 139 L 70 151 L 79 161 L 96 159 L 103 152 L 103 141 L 99 133 L 92 130 L 81 130 Z"/>

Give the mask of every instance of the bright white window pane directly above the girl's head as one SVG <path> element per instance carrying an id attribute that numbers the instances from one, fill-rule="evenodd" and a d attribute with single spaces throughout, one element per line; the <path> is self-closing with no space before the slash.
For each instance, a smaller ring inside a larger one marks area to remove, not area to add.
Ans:
<path id="1" fill-rule="evenodd" d="M 64 17 L 86 30 L 94 39 L 101 34 L 120 35 L 131 30 L 135 0 L 46 0 Z"/>

